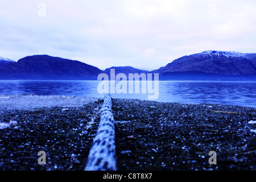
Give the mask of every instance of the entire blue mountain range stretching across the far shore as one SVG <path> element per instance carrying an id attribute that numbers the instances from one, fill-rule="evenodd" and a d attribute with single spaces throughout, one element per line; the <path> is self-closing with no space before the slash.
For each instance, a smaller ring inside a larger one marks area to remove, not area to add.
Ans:
<path id="1" fill-rule="evenodd" d="M 0 57 L 1 58 L 1 57 Z M 1 59 L 0 59 L 1 60 Z M 110 67 L 104 71 L 77 60 L 49 55 L 33 55 L 17 62 L 2 59 L 0 79 L 30 80 L 97 80 L 100 73 L 159 73 L 160 80 L 256 80 L 256 53 L 203 51 L 175 59 L 154 71 L 130 66 Z"/>

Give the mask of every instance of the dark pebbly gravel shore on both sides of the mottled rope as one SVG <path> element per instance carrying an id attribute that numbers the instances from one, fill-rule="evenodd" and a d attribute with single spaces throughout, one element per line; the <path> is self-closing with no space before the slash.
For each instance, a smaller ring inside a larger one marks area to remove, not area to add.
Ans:
<path id="1" fill-rule="evenodd" d="M 103 98 L 0 94 L 0 170 L 84 170 Z M 112 99 L 118 170 L 256 170 L 256 109 Z M 16 123 L 15 123 L 16 122 Z M 39 151 L 46 165 L 38 164 Z M 209 164 L 216 151 L 217 164 Z"/>

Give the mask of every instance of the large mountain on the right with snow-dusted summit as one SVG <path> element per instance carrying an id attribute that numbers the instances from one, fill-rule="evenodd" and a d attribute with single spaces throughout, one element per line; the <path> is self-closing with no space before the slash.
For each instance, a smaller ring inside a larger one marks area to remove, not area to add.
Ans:
<path id="1" fill-rule="evenodd" d="M 163 79 L 256 78 L 256 53 L 204 51 L 152 71 Z"/>

